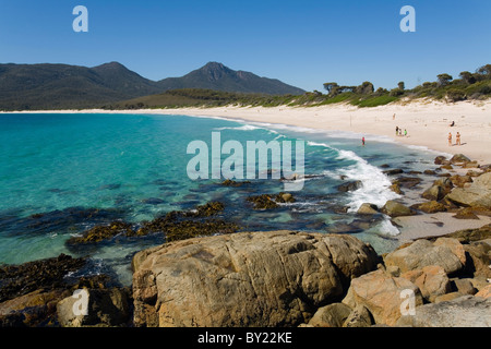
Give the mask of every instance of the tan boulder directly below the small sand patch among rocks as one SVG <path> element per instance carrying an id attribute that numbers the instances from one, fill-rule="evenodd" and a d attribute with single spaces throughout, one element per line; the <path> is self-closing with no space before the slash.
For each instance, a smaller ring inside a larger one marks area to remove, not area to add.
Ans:
<path id="1" fill-rule="evenodd" d="M 465 252 L 458 240 L 451 238 L 446 239 L 454 241 L 450 242 L 443 240 L 432 243 L 424 239 L 417 240 L 408 246 L 400 248 L 385 255 L 385 265 L 397 266 L 402 273 L 422 269 L 430 265 L 441 266 L 446 274 L 459 272 L 464 267 L 462 258 L 463 253 L 465 255 Z M 458 245 L 460 245 L 460 248 Z"/>

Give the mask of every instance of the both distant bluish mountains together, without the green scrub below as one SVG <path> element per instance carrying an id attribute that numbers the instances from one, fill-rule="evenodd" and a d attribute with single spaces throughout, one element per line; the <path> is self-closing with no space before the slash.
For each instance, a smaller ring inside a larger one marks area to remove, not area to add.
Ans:
<path id="1" fill-rule="evenodd" d="M 302 94 L 277 80 L 208 63 L 182 77 L 155 82 L 118 62 L 94 68 L 68 64 L 0 64 L 0 110 L 97 108 L 173 88 L 260 94 Z"/>

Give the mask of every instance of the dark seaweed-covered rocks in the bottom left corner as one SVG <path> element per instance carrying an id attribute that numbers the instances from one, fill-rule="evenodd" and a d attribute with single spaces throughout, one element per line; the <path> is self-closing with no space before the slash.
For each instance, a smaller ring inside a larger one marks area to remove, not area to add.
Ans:
<path id="1" fill-rule="evenodd" d="M 115 311 L 107 306 L 109 296 L 103 297 L 104 294 L 118 299 L 115 304 L 125 304 L 127 312 L 123 316 L 128 323 L 131 318 L 129 290 L 122 292 L 118 288 L 106 288 L 109 278 L 105 275 L 70 276 L 80 273 L 86 264 L 85 258 L 60 254 L 53 258 L 0 267 L 0 327 L 121 324 L 120 320 L 115 321 Z M 70 323 L 67 318 L 74 316 L 71 305 L 76 299 L 72 294 L 77 289 L 86 289 L 91 294 L 91 320 Z M 115 294 L 119 294 L 119 298 Z M 70 306 L 64 306 L 69 301 Z"/>

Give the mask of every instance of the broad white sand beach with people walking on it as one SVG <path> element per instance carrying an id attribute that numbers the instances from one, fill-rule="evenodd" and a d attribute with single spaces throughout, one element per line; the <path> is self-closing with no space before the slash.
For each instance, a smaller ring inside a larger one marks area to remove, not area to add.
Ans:
<path id="1" fill-rule="evenodd" d="M 491 100 L 458 104 L 418 101 L 375 108 L 357 108 L 343 104 L 311 108 L 223 107 L 165 109 L 151 112 L 214 116 L 309 129 L 347 131 L 358 133 L 360 142 L 362 136 L 370 142 L 371 135 L 382 135 L 403 144 L 422 146 L 445 154 L 462 153 L 481 164 L 491 164 Z M 452 121 L 455 121 L 453 128 L 450 127 Z M 403 129 L 403 134 L 404 130 L 407 130 L 407 136 L 396 136 L 396 127 Z M 454 146 L 448 146 L 448 132 L 452 132 Z M 456 132 L 462 135 L 460 146 L 455 145 Z"/>

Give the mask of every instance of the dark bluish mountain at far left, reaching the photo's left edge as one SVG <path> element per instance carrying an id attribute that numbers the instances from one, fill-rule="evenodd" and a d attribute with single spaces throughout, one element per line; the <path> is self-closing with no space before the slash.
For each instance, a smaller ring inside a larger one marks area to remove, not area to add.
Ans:
<path id="1" fill-rule="evenodd" d="M 116 62 L 95 68 L 0 64 L 0 109 L 7 110 L 88 108 L 160 91 Z"/>

